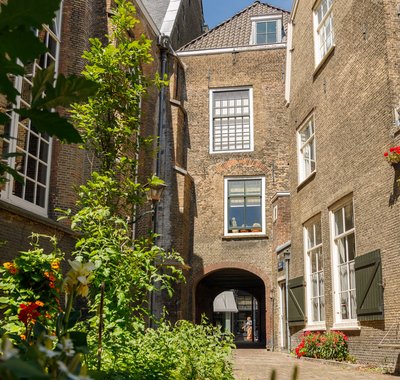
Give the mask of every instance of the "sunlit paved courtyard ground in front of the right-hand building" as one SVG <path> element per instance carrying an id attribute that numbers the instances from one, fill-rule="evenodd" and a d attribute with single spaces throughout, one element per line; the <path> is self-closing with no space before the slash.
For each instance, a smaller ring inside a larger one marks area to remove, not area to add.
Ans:
<path id="1" fill-rule="evenodd" d="M 270 380 L 276 370 L 276 380 L 291 380 L 293 368 L 298 367 L 297 380 L 392 380 L 396 377 L 360 369 L 356 365 L 330 364 L 323 361 L 296 359 L 286 353 L 265 349 L 237 349 L 234 368 L 237 380 Z"/>

